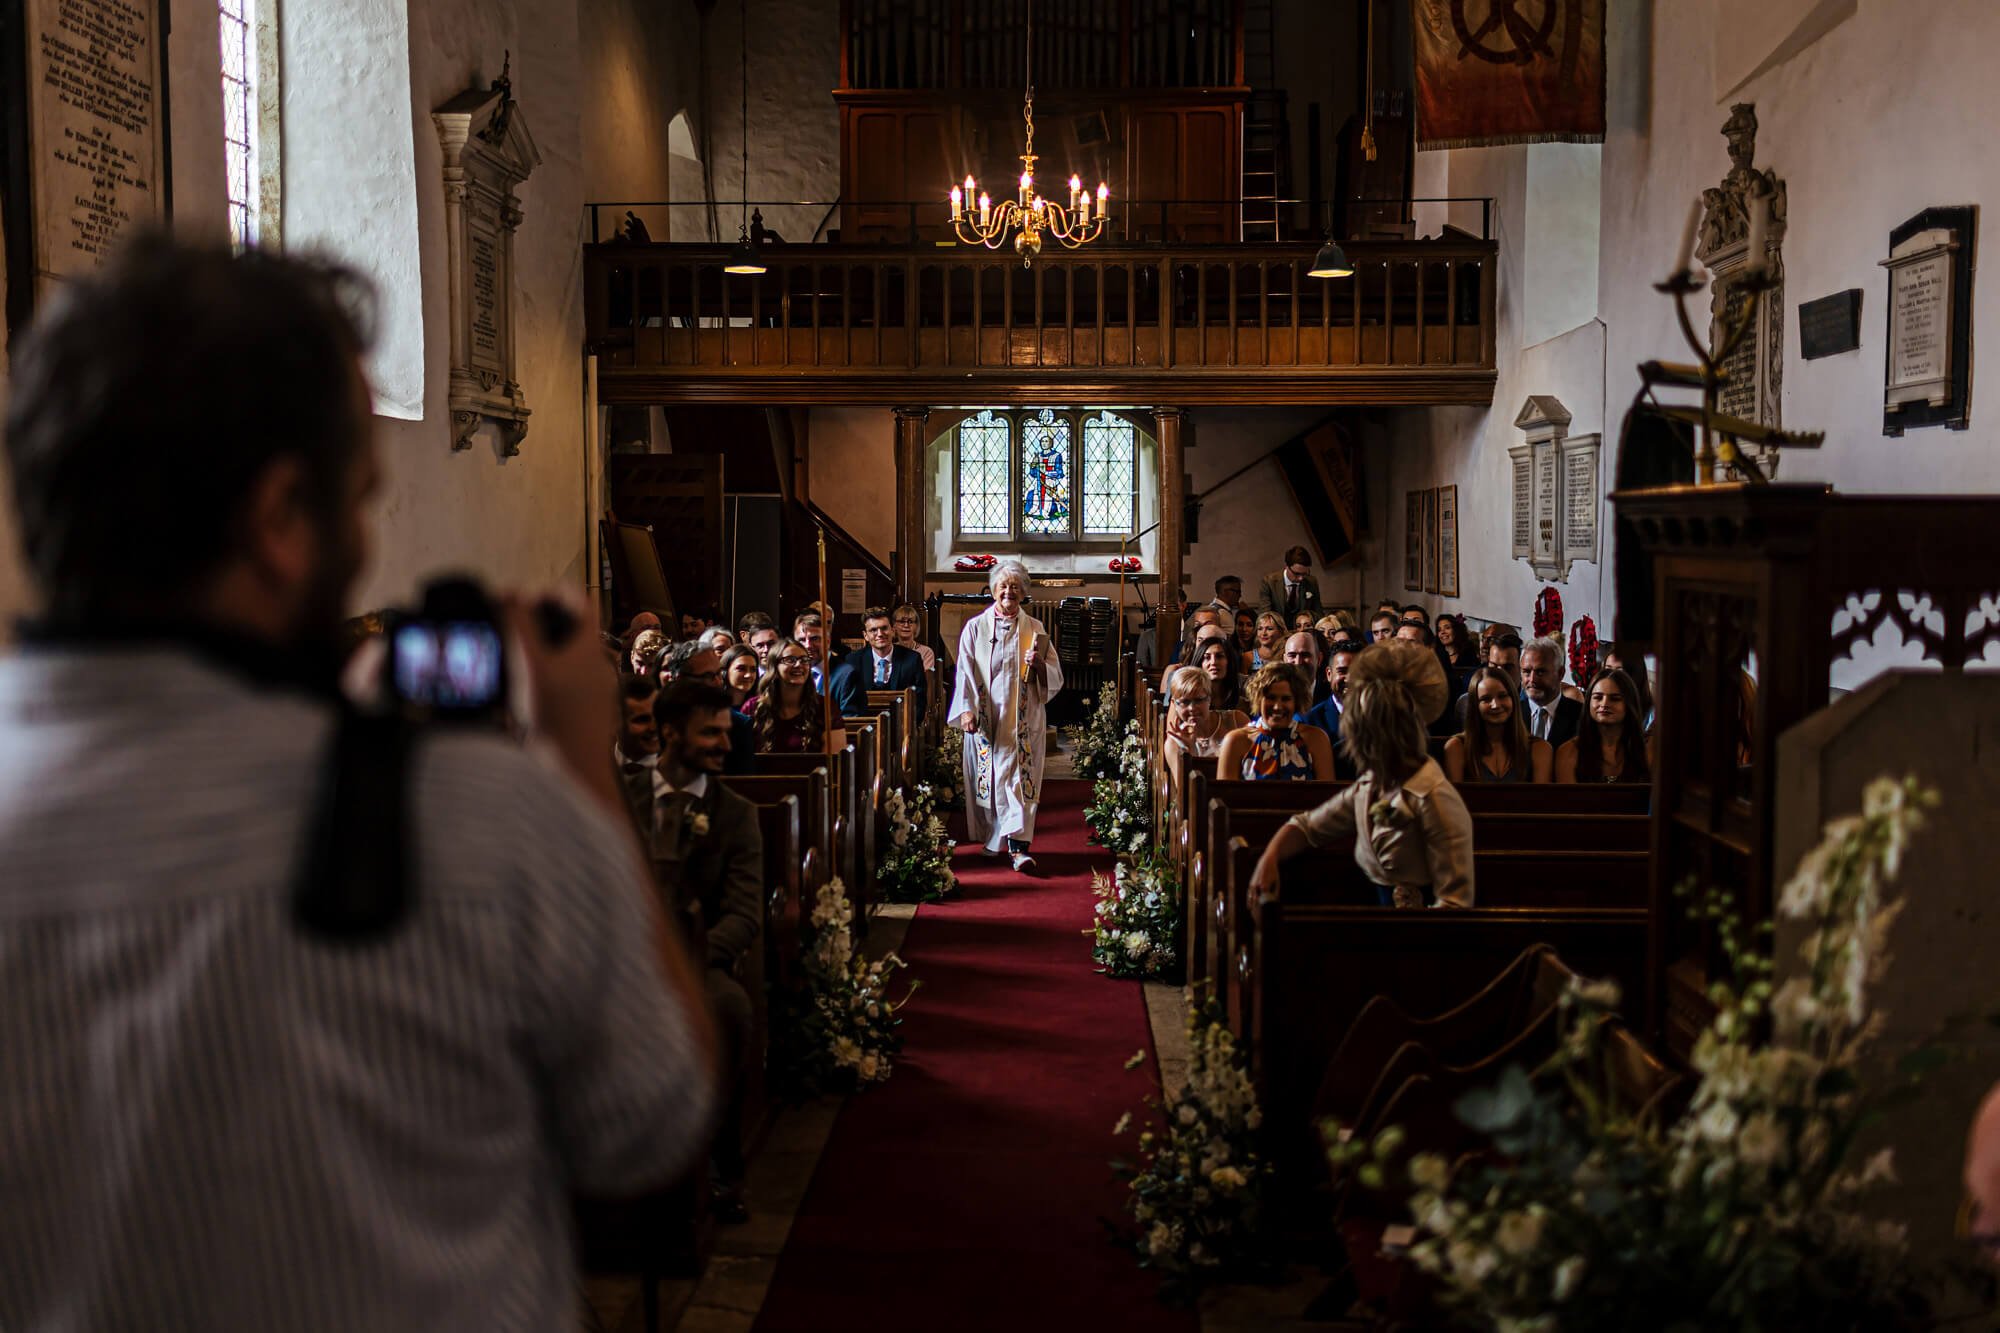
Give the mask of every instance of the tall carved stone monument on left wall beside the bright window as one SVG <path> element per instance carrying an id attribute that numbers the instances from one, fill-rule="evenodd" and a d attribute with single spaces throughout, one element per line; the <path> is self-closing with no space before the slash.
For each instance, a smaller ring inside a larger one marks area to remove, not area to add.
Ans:
<path id="1" fill-rule="evenodd" d="M 444 234 L 452 286 L 452 448 L 492 422 L 502 452 L 520 452 L 528 398 L 514 378 L 514 186 L 542 162 L 514 102 L 508 68 L 430 116 L 444 146 Z"/>

